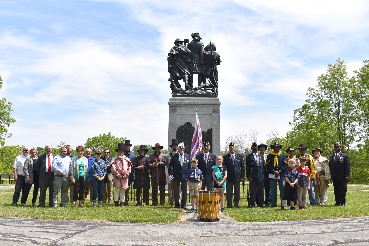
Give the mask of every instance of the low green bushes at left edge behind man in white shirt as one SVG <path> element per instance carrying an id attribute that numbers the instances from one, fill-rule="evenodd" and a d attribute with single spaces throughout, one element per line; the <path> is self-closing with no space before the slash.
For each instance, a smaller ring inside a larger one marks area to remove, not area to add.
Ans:
<path id="1" fill-rule="evenodd" d="M 0 172 L 13 173 L 13 164 L 17 156 L 22 154 L 23 146 L 3 146 L 0 147 Z"/>

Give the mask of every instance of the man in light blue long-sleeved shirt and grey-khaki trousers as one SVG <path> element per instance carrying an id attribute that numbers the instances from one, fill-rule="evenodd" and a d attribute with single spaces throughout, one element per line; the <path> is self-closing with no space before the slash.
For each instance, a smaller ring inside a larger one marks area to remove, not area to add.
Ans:
<path id="1" fill-rule="evenodd" d="M 67 148 L 61 147 L 60 154 L 52 160 L 52 168 L 54 169 L 54 194 L 52 200 L 54 208 L 58 208 L 58 196 L 61 190 L 61 207 L 66 205 L 66 194 L 69 187 L 69 172 L 72 167 L 72 159 L 67 154 Z"/>

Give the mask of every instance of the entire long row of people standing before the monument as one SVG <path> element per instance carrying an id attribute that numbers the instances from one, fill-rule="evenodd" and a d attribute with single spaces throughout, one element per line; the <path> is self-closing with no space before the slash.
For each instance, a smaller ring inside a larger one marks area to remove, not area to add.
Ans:
<path id="1" fill-rule="evenodd" d="M 45 206 L 47 190 L 50 207 L 58 207 L 60 193 L 59 206 L 66 206 L 69 197 L 76 208 L 83 206 L 87 186 L 90 187 L 90 202 L 94 207 L 102 206 L 101 203 L 112 204 L 113 185 L 115 206 L 124 206 L 128 204 L 128 192 L 133 183 L 136 205 L 149 205 L 150 186 L 152 205 L 159 205 L 158 190 L 160 205 L 164 205 L 165 185 L 168 183 L 169 202 L 174 201 L 175 208 L 186 209 L 187 188 L 192 198 L 190 212 L 198 212 L 200 190 L 218 189 L 223 212 L 225 194 L 227 208 L 239 208 L 244 177 L 249 181 L 250 207 L 276 207 L 277 183 L 281 210 L 288 202 L 290 209 L 296 209 L 296 204 L 299 209 L 306 209 L 307 195 L 310 205 L 327 205 L 327 186 L 330 180 L 334 186 L 335 205 L 346 204 L 350 160 L 341 152 L 339 143 L 334 144 L 335 154 L 328 160 L 321 156 L 320 148 L 314 148 L 311 155 L 307 154 L 307 146 L 304 144 L 297 147 L 297 155 L 294 147 L 287 148 L 286 155 L 281 153 L 283 146 L 276 141 L 270 146 L 272 153 L 267 155 L 265 151 L 268 146 L 254 142 L 251 145 L 252 153 L 246 156 L 245 163 L 242 154 L 235 152 L 233 142 L 229 144 L 229 153 L 225 156 L 210 153 L 210 143 L 204 142 L 203 151 L 193 160 L 190 160 L 189 154 L 184 153 L 184 144 L 179 143 L 178 139 L 172 139 L 169 154 L 161 153 L 163 146 L 156 143 L 152 147 L 153 154 L 146 156 L 148 150 L 142 144 L 135 150 L 138 154 L 136 156 L 131 146 L 130 140 L 119 143 L 115 149 L 118 154 L 113 158 L 107 148 L 103 151 L 95 150 L 95 157 L 92 157 L 92 150 L 80 145 L 76 147 L 78 155 L 75 157 L 69 145 L 61 147 L 57 156 L 51 153 L 51 145 L 46 145 L 45 154 L 40 156 L 37 156 L 37 148 L 29 149 L 25 146 L 13 165 L 16 184 L 12 204 L 17 205 L 22 192 L 21 205 L 27 206 L 26 201 L 33 184 L 32 206 L 36 206 L 38 192 L 38 206 Z"/>

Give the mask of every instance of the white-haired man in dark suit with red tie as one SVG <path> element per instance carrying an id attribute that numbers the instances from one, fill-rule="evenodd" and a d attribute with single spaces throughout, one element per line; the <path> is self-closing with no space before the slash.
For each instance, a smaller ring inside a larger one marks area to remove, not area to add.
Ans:
<path id="1" fill-rule="evenodd" d="M 53 206 L 52 194 L 54 193 L 54 170 L 52 168 L 52 160 L 56 156 L 51 153 L 52 146 L 45 146 L 45 154 L 42 154 L 37 158 L 37 167 L 40 172 L 40 197 L 39 197 L 39 207 L 45 206 L 46 200 L 46 190 L 49 188 L 49 206 Z"/>

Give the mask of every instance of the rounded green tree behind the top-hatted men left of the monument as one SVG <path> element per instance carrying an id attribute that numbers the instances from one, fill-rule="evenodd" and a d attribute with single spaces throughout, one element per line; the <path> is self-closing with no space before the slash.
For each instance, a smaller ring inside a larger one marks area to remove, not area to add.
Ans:
<path id="1" fill-rule="evenodd" d="M 118 147 L 118 143 L 124 143 L 125 137 L 114 137 L 109 132 L 108 134 L 99 135 L 97 137 L 88 138 L 85 147 L 90 148 L 92 150 L 92 154 L 94 156 L 95 150 L 100 149 L 103 151 L 105 148 L 108 148 L 110 150 L 110 156 L 117 155 L 117 152 L 115 152 L 115 149 Z"/>

